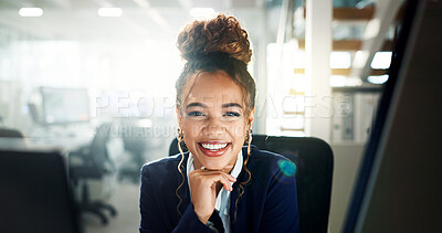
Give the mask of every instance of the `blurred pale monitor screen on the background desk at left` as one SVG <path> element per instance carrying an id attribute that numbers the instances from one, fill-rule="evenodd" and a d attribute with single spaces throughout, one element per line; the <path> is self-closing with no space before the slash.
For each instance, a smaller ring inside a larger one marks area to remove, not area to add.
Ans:
<path id="1" fill-rule="evenodd" d="M 90 97 L 85 88 L 41 87 L 44 124 L 90 120 Z"/>

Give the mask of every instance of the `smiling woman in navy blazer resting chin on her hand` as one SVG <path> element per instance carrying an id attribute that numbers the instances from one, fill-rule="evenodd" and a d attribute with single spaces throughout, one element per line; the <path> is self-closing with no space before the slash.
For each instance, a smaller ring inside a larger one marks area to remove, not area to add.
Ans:
<path id="1" fill-rule="evenodd" d="M 250 145 L 255 83 L 248 33 L 233 17 L 194 21 L 178 36 L 178 147 L 141 169 L 139 231 L 297 232 L 296 180 L 280 155 Z M 244 146 L 246 142 L 246 146 Z"/>

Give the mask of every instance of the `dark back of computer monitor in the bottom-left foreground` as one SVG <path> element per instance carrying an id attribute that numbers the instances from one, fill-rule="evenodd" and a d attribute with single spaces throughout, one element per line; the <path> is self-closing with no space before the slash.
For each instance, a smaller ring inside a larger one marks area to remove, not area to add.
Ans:
<path id="1" fill-rule="evenodd" d="M 0 149 L 0 232 L 80 232 L 63 156 Z"/>

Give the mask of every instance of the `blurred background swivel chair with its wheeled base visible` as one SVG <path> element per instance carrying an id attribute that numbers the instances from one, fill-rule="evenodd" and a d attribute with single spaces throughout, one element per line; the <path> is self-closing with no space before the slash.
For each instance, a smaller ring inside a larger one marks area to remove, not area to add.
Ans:
<path id="1" fill-rule="evenodd" d="M 112 124 L 101 125 L 95 134 L 91 145 L 80 148 L 69 153 L 70 178 L 75 186 L 81 187 L 81 197 L 78 209 L 83 212 L 90 212 L 97 215 L 103 224 L 108 223 L 108 218 L 104 210 L 109 211 L 112 216 L 117 214 L 116 209 L 101 200 L 91 201 L 91 193 L 87 186 L 87 180 L 103 180 L 106 176 L 112 176 L 116 172 L 115 165 L 109 158 L 106 144 L 109 140 L 109 131 Z M 81 162 L 73 162 L 80 160 Z"/>

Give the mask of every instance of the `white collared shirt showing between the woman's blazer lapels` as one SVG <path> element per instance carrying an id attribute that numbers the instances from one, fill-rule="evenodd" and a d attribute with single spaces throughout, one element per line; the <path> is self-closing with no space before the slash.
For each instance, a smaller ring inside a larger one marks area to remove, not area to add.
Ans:
<path id="1" fill-rule="evenodd" d="M 236 162 L 230 172 L 230 174 L 234 178 L 238 178 L 242 170 L 242 165 L 243 165 L 243 158 L 242 158 L 242 150 L 238 153 L 236 157 Z M 192 153 L 189 151 L 189 158 L 187 160 L 187 182 L 189 184 L 189 192 L 191 193 L 190 190 L 190 182 L 189 182 L 189 172 L 194 170 L 193 166 L 193 157 Z M 233 182 L 230 182 L 230 184 L 233 186 Z M 191 199 L 192 195 L 190 195 Z M 224 226 L 224 231 L 227 233 L 231 232 L 230 229 L 230 191 L 227 191 L 225 189 L 221 188 L 221 191 L 218 193 L 217 197 L 217 202 L 214 204 L 214 209 L 219 211 L 220 218 L 222 220 L 222 224 Z"/>

